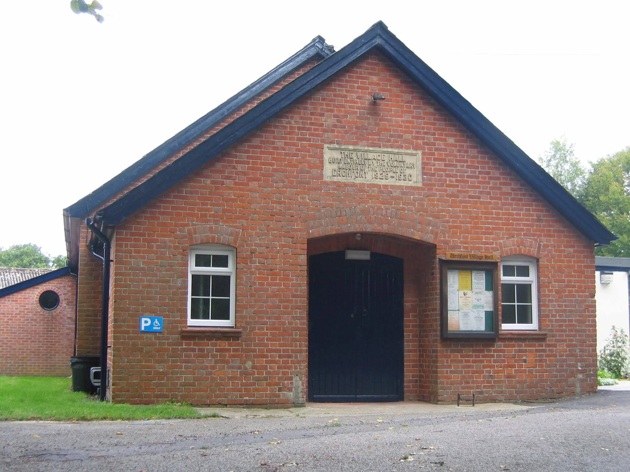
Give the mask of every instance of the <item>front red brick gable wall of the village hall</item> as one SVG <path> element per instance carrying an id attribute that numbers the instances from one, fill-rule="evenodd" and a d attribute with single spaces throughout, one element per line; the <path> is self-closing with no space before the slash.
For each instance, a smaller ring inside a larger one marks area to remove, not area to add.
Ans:
<path id="1" fill-rule="evenodd" d="M 375 92 L 386 101 L 372 104 Z M 419 150 L 423 185 L 323 181 L 324 143 Z M 364 219 L 345 226 L 347 216 L 322 213 L 348 208 Z M 417 218 L 418 227 L 403 234 L 380 222 L 392 212 L 404 225 Z M 241 335 L 181 334 L 188 248 L 201 234 L 193 227 L 227 228 L 226 241 L 236 245 Z M 370 233 L 370 247 L 404 256 L 406 398 L 450 403 L 471 391 L 485 401 L 595 391 L 592 242 L 374 53 L 118 225 L 113 400 L 303 402 L 307 255 L 350 244 L 339 234 L 344 228 L 388 233 Z M 446 250 L 536 254 L 546 337 L 440 340 L 438 258 Z M 163 316 L 164 332 L 140 334 L 140 315 Z"/>

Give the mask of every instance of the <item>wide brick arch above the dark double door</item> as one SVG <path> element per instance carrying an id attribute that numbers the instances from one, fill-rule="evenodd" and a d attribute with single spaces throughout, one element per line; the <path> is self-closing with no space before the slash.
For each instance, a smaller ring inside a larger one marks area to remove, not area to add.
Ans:
<path id="1" fill-rule="evenodd" d="M 302 220 L 307 239 L 341 233 L 385 233 L 435 244 L 440 234 L 439 220 L 388 208 L 329 208 L 306 213 Z"/>

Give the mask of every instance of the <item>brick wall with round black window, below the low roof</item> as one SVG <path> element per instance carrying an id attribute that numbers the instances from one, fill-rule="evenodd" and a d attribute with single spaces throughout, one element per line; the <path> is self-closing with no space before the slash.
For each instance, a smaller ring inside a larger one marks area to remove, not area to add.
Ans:
<path id="1" fill-rule="evenodd" d="M 56 291 L 59 306 L 39 296 Z M 76 279 L 66 275 L 0 298 L 0 375 L 68 376 L 74 352 Z"/>

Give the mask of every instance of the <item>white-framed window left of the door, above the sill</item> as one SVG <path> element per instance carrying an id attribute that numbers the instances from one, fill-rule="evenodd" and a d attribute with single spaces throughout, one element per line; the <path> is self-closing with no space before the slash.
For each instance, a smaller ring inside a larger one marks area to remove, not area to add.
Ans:
<path id="1" fill-rule="evenodd" d="M 188 325 L 234 326 L 236 251 L 218 244 L 190 247 Z"/>

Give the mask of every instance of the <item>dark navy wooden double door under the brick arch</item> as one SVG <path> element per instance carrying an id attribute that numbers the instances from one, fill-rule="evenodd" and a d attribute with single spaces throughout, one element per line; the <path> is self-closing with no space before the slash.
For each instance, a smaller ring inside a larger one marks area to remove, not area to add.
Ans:
<path id="1" fill-rule="evenodd" d="M 403 259 L 309 257 L 309 401 L 403 400 Z"/>

